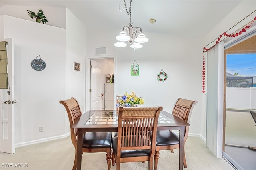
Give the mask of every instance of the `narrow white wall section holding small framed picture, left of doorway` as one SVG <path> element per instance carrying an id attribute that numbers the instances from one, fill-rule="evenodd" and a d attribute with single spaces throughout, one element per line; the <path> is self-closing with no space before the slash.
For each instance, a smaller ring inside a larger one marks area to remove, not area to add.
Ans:
<path id="1" fill-rule="evenodd" d="M 82 113 L 85 112 L 85 52 L 86 29 L 84 24 L 66 9 L 66 72 L 65 72 L 65 98 L 74 97 L 78 100 Z M 80 72 L 73 71 L 74 61 L 80 63 Z M 66 133 L 70 132 L 68 115 L 66 115 Z"/>

